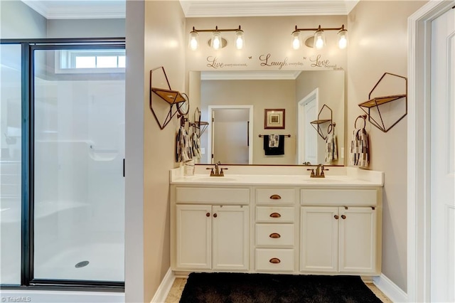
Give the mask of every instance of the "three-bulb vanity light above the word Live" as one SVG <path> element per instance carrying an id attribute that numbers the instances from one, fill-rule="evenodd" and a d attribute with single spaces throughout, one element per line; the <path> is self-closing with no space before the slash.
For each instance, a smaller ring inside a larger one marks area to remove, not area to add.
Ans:
<path id="1" fill-rule="evenodd" d="M 229 28 L 229 29 L 220 29 L 218 26 L 215 26 L 215 29 L 196 29 L 193 26 L 193 31 L 190 32 L 188 46 L 191 50 L 198 49 L 199 46 L 199 33 L 200 32 L 212 32 L 212 38 L 208 41 L 208 45 L 215 49 L 219 50 L 224 48 L 228 41 L 221 36 L 222 31 L 235 31 L 235 48 L 242 49 L 245 46 L 245 33 L 240 28 Z"/>

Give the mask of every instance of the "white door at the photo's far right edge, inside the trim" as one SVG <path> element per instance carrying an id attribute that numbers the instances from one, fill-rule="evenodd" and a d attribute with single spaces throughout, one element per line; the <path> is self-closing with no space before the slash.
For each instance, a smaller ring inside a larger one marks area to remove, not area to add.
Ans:
<path id="1" fill-rule="evenodd" d="M 455 302 L 455 9 L 432 21 L 432 302 Z"/>

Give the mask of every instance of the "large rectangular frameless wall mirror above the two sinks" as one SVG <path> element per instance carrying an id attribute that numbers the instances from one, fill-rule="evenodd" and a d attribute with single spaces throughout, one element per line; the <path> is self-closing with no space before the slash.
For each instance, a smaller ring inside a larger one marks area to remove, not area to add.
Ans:
<path id="1" fill-rule="evenodd" d="M 198 163 L 345 164 L 344 70 L 198 71 L 189 77 L 189 118 L 198 108 L 208 122 Z M 271 110 L 278 110 L 273 119 L 283 119 L 275 128 L 267 124 Z M 311 123 L 316 120 L 324 122 Z M 266 152 L 265 136 L 272 134 L 284 136 L 282 153 Z M 335 159 L 326 150 L 333 141 Z"/>

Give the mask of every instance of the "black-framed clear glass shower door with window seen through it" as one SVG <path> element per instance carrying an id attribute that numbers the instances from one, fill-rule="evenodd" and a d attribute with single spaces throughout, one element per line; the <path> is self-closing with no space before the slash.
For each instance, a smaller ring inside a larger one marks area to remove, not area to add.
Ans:
<path id="1" fill-rule="evenodd" d="M 33 278 L 123 282 L 124 46 L 31 55 Z"/>

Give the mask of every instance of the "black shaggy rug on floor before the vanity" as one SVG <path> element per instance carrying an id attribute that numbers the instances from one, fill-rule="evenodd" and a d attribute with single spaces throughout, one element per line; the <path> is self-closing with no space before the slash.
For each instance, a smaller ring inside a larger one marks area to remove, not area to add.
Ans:
<path id="1" fill-rule="evenodd" d="M 356 276 L 191 273 L 182 303 L 381 302 Z"/>

